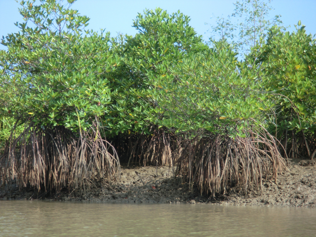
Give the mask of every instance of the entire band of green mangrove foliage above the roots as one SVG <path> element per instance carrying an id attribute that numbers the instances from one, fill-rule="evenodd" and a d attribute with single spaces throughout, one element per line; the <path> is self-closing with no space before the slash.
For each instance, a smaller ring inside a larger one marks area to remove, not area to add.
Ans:
<path id="1" fill-rule="evenodd" d="M 112 136 L 150 133 L 152 125 L 235 136 L 278 110 L 279 125 L 315 129 L 315 41 L 304 27 L 292 35 L 274 28 L 239 62 L 226 40 L 204 44 L 179 11 L 146 10 L 133 23 L 135 37 L 115 39 L 82 36 L 89 19 L 67 3 L 40 3 L 22 1 L 25 23 L 2 40 L 1 117 L 74 131 L 99 117 Z M 267 14 L 265 7 L 256 9 Z"/>

